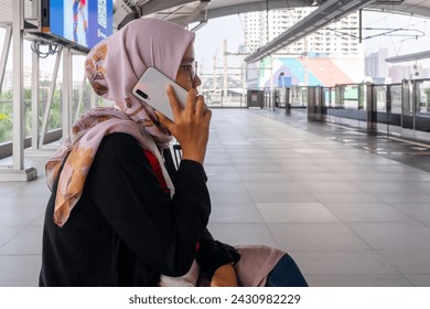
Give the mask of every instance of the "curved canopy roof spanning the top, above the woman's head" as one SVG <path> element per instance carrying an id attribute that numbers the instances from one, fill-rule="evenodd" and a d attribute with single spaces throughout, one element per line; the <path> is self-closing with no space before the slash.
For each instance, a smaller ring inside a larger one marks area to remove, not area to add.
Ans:
<path id="1" fill-rule="evenodd" d="M 325 2 L 337 2 L 340 10 L 343 6 L 348 6 L 352 2 L 361 2 L 366 9 L 370 10 L 396 11 L 430 18 L 430 1 L 428 0 L 114 0 L 114 10 L 117 15 L 115 20 L 117 25 L 122 21 L 127 21 L 127 19 L 143 15 L 166 19 L 187 25 L 193 22 L 204 23 L 213 18 L 237 13 L 268 9 L 319 7 Z"/>

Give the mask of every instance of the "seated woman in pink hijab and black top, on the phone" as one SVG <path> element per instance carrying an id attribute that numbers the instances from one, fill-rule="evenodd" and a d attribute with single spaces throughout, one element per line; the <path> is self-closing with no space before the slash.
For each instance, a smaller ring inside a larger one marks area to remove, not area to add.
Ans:
<path id="1" fill-rule="evenodd" d="M 248 285 L 236 271 L 249 275 L 251 259 L 237 263 L 238 252 L 205 228 L 211 201 L 203 162 L 212 113 L 195 89 L 201 81 L 193 41 L 194 33 L 175 24 L 139 19 L 88 54 L 88 79 L 114 107 L 83 115 L 46 163 L 52 196 L 41 286 L 196 285 L 200 274 L 212 286 Z M 189 90 L 181 108 L 166 89 L 174 122 L 131 94 L 149 66 Z M 162 150 L 171 135 L 183 156 L 174 174 L 165 169 L 171 158 Z M 243 252 L 246 256 L 247 248 Z M 255 248 L 248 252 L 256 256 Z M 273 264 L 257 284 L 266 283 L 282 255 L 272 254 Z"/>

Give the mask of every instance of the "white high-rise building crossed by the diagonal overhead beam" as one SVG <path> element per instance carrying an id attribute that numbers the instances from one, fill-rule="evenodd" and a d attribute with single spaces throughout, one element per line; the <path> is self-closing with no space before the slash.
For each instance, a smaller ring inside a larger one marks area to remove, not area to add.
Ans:
<path id="1" fill-rule="evenodd" d="M 270 42 L 310 14 L 315 8 L 294 8 L 245 14 L 247 52 Z M 331 57 L 362 55 L 358 12 L 353 12 L 277 52 L 286 55 L 326 54 Z"/>

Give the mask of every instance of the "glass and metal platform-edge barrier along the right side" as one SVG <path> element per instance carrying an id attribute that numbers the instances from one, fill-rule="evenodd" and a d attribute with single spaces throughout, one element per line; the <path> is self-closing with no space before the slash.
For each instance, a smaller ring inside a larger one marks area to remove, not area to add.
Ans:
<path id="1" fill-rule="evenodd" d="M 430 141 L 430 79 L 308 87 L 308 118 Z"/>

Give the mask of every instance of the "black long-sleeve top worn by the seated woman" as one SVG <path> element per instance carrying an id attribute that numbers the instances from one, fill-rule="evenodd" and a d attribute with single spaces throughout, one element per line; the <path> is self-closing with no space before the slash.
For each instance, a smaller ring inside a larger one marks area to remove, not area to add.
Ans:
<path id="1" fill-rule="evenodd" d="M 53 222 L 53 188 L 40 286 L 157 286 L 160 274 L 184 275 L 194 257 L 209 275 L 237 260 L 205 230 L 211 200 L 203 167 L 182 160 L 173 182 L 171 199 L 135 138 L 105 137 L 63 228 Z"/>

